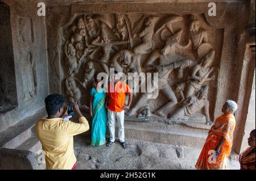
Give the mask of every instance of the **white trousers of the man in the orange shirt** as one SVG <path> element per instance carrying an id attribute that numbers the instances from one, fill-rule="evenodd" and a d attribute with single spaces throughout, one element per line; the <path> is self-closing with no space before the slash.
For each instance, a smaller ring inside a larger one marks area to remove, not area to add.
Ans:
<path id="1" fill-rule="evenodd" d="M 118 138 L 120 142 L 125 141 L 125 111 L 114 112 L 108 110 L 110 141 L 115 141 L 115 118 L 118 121 Z"/>

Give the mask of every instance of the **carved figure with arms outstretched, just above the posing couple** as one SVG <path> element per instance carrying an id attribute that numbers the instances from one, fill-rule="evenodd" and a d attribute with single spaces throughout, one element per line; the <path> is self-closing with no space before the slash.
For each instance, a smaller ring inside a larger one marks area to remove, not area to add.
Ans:
<path id="1" fill-rule="evenodd" d="M 110 42 L 109 37 L 105 31 L 102 31 L 101 35 L 101 43 L 93 43 L 93 45 L 96 45 L 98 47 L 101 47 L 103 50 L 103 54 L 100 58 L 100 60 L 95 60 L 101 63 L 104 71 L 109 75 L 109 59 L 110 59 L 110 52 L 112 50 L 113 45 L 122 45 L 122 44 L 127 44 L 129 41 L 112 41 Z"/>

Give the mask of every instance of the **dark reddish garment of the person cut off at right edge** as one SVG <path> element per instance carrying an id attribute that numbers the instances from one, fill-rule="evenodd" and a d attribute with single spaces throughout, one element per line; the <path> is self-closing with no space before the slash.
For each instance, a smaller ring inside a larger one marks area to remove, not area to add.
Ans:
<path id="1" fill-rule="evenodd" d="M 241 170 L 255 170 L 255 148 L 249 147 L 239 157 Z"/>

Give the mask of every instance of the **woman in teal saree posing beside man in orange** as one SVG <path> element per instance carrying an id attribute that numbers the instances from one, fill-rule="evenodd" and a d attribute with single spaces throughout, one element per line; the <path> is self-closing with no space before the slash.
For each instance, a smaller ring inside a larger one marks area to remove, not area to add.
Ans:
<path id="1" fill-rule="evenodd" d="M 106 142 L 106 122 L 108 120 L 105 98 L 100 79 L 96 79 L 90 91 L 90 116 L 92 116 L 92 143 L 91 145 L 103 145 Z"/>

